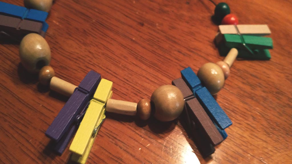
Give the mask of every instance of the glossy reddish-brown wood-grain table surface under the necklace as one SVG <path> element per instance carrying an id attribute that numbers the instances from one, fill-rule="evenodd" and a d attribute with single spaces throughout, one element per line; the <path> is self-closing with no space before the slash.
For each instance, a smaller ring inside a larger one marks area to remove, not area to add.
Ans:
<path id="1" fill-rule="evenodd" d="M 19 0 L 4 0 L 23 6 Z M 215 3 L 219 1 L 215 0 Z M 87 163 L 291 163 L 292 3 L 226 0 L 240 24 L 267 24 L 271 60 L 237 60 L 215 96 L 233 125 L 203 159 L 181 122 L 107 113 Z M 150 99 L 159 86 L 223 60 L 213 43 L 218 26 L 208 0 L 55 0 L 46 41 L 56 76 L 75 85 L 88 71 L 113 81 L 112 98 Z M 0 45 L 0 163 L 71 163 L 51 151 L 45 131 L 67 98 L 28 74 L 18 43 Z"/>

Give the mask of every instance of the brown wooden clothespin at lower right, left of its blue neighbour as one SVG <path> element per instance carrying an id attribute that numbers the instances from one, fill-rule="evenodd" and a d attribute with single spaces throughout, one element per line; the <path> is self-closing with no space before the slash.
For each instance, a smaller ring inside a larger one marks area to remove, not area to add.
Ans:
<path id="1" fill-rule="evenodd" d="M 223 141 L 211 119 L 182 78 L 172 81 L 183 93 L 185 107 L 181 117 L 186 120 L 186 131 L 205 158 L 214 153 L 214 146 Z"/>

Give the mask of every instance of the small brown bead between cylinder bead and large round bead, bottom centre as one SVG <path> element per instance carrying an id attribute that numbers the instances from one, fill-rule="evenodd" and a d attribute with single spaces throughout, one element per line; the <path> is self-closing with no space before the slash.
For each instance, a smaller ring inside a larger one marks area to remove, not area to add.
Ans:
<path id="1" fill-rule="evenodd" d="M 148 120 L 151 115 L 150 100 L 142 99 L 138 102 L 137 114 L 141 120 Z"/>

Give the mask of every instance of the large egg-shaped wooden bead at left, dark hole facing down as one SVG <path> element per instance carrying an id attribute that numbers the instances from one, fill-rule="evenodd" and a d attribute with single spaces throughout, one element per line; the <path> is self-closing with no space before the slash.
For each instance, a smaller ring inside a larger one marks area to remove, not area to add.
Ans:
<path id="1" fill-rule="evenodd" d="M 39 70 L 51 62 L 51 49 L 47 41 L 39 34 L 28 34 L 20 42 L 20 61 L 31 73 Z"/>

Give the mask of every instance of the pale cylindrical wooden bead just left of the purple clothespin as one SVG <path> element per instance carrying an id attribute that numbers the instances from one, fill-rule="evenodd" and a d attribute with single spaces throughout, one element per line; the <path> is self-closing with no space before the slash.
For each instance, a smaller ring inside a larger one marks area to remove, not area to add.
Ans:
<path id="1" fill-rule="evenodd" d="M 73 94 L 75 88 L 77 88 L 77 86 L 54 76 L 51 78 L 50 88 L 53 91 L 70 97 Z"/>

